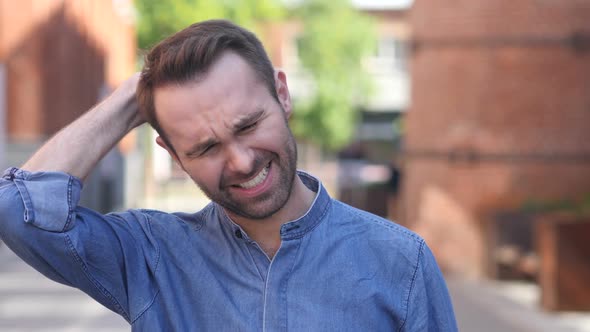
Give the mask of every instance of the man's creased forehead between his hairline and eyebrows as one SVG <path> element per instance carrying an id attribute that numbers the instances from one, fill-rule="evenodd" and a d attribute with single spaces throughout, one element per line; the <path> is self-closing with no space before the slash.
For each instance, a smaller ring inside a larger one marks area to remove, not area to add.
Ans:
<path id="1" fill-rule="evenodd" d="M 186 131 L 187 126 L 203 128 L 209 121 L 235 127 L 252 112 L 268 108 L 274 100 L 249 63 L 226 52 L 205 73 L 183 82 L 154 89 L 154 106 L 166 132 Z M 201 116 L 202 115 L 202 116 Z M 196 128 L 195 128 L 196 129 Z"/>

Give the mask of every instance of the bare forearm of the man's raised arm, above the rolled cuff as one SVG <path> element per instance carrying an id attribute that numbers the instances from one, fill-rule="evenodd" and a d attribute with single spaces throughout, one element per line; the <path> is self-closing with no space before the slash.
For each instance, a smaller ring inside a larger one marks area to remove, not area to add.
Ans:
<path id="1" fill-rule="evenodd" d="M 144 122 L 135 100 L 138 81 L 139 74 L 135 74 L 123 82 L 107 99 L 47 141 L 22 169 L 86 178 L 125 134 Z"/>

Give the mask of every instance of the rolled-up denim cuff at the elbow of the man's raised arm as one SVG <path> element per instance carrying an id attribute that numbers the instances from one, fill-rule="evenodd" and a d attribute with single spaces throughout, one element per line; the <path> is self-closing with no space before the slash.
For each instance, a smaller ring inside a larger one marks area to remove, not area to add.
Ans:
<path id="1" fill-rule="evenodd" d="M 2 178 L 14 182 L 18 189 L 24 222 L 50 232 L 71 229 L 82 190 L 80 179 L 66 173 L 32 173 L 18 168 L 8 169 Z"/>

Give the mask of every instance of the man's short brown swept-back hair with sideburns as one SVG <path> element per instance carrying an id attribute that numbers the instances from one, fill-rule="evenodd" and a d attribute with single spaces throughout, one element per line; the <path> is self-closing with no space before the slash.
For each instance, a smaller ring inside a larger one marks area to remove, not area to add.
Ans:
<path id="1" fill-rule="evenodd" d="M 176 151 L 156 117 L 155 89 L 198 79 L 226 51 L 244 59 L 278 101 L 274 68 L 262 43 L 252 32 L 232 22 L 209 20 L 195 23 L 164 39 L 146 55 L 137 86 L 139 109 L 174 153 Z"/>

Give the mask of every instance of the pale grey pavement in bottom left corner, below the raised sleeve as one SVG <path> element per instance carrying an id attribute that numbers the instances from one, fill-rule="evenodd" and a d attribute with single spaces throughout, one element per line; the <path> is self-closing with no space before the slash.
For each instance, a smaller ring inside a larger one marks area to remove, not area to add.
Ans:
<path id="1" fill-rule="evenodd" d="M 123 332 L 130 328 L 86 294 L 50 281 L 0 245 L 0 331 Z"/>

